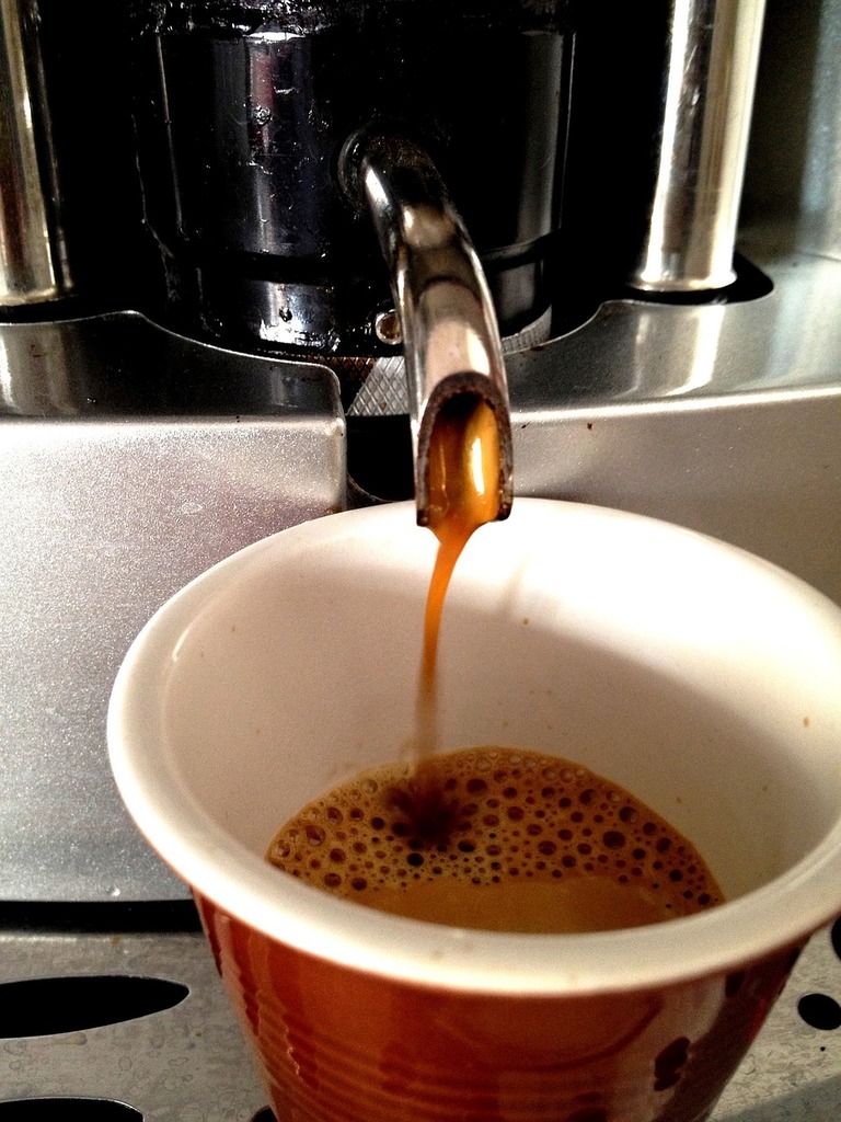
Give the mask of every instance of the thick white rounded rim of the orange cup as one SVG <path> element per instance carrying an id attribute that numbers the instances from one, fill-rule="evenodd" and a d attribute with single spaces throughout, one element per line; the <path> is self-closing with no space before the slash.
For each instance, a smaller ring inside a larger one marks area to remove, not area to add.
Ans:
<path id="1" fill-rule="evenodd" d="M 811 604 L 817 597 L 841 635 L 841 609 L 764 559 L 659 519 L 607 507 L 528 498 L 517 498 L 515 507 L 546 504 L 617 524 L 645 523 L 660 541 L 692 534 L 732 564 L 760 567 L 766 579 L 770 572 L 780 592 Z M 344 512 L 246 546 L 176 592 L 131 644 L 109 705 L 112 772 L 141 834 L 194 894 L 277 942 L 346 967 L 462 992 L 544 996 L 621 992 L 727 973 L 798 946 L 841 912 L 841 816 L 810 854 L 771 882 L 709 911 L 646 928 L 583 935 L 464 930 L 375 911 L 292 876 L 284 877 L 280 891 L 283 874 L 232 839 L 167 771 L 157 727 L 149 719 L 160 660 L 172 656 L 173 636 L 220 583 L 261 554 L 283 552 L 292 541 L 329 540 L 335 518 L 354 518 L 361 526 L 371 517 L 405 517 L 407 506 Z M 722 946 L 728 948 L 724 954 Z"/>

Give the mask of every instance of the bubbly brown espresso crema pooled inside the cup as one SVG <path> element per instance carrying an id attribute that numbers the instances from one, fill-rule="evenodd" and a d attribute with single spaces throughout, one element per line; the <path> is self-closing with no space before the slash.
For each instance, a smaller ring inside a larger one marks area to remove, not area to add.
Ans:
<path id="1" fill-rule="evenodd" d="M 360 773 L 287 822 L 267 856 L 368 907 L 484 930 L 613 930 L 723 901 L 692 843 L 628 791 L 511 748 Z"/>

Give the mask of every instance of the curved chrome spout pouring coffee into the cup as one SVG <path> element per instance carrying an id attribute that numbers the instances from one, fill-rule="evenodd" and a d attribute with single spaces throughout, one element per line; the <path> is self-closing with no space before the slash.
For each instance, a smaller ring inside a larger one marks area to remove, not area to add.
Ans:
<path id="1" fill-rule="evenodd" d="M 429 443 L 442 411 L 480 398 L 500 448 L 497 518 L 514 493 L 511 424 L 499 328 L 479 257 L 428 155 L 388 135 L 352 138 L 344 188 L 371 215 L 400 322 L 412 422 L 417 521 L 429 518 Z"/>

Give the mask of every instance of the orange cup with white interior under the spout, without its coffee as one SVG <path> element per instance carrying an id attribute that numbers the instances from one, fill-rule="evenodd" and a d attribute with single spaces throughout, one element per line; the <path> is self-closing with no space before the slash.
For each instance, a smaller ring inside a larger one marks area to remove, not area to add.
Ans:
<path id="1" fill-rule="evenodd" d="M 284 531 L 135 641 L 109 746 L 192 888 L 279 1122 L 701 1122 L 841 912 L 841 610 L 742 551 L 515 500 L 459 561 L 441 751 L 579 761 L 687 836 L 727 901 L 583 935 L 385 914 L 270 866 L 277 829 L 413 751 L 436 543 L 414 507 Z"/>

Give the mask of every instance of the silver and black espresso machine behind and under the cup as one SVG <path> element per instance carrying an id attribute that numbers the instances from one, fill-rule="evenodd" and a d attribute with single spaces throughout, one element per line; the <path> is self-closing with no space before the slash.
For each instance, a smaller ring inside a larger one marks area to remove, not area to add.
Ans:
<path id="1" fill-rule="evenodd" d="M 839 0 L 0 0 L 0 1122 L 260 1112 L 111 683 L 237 549 L 423 522 L 453 396 L 506 504 L 841 603 L 840 43 Z M 824 935 L 714 1118 L 835 1122 Z"/>

